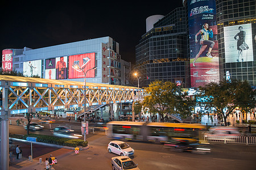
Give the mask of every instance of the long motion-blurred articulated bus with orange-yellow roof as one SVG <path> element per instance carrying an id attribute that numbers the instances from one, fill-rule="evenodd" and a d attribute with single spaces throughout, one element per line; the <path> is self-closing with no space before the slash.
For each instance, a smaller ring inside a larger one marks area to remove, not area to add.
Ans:
<path id="1" fill-rule="evenodd" d="M 171 139 L 183 139 L 189 142 L 199 141 L 201 124 L 176 124 L 167 122 L 108 122 L 108 137 L 122 140 L 167 142 Z"/>

